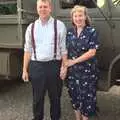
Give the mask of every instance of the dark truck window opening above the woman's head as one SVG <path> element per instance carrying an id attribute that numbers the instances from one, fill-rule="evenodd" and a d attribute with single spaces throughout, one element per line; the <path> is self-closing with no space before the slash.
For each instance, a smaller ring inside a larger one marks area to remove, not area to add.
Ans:
<path id="1" fill-rule="evenodd" d="M 60 0 L 62 9 L 72 8 L 74 5 L 84 5 L 87 8 L 96 8 L 96 4 L 102 7 L 105 0 Z"/>

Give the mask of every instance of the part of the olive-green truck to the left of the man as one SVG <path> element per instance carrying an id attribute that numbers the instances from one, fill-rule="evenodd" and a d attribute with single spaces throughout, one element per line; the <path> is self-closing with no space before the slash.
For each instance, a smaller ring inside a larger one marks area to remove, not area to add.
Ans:
<path id="1" fill-rule="evenodd" d="M 21 76 L 25 29 L 36 16 L 36 0 L 0 0 L 0 79 Z"/>

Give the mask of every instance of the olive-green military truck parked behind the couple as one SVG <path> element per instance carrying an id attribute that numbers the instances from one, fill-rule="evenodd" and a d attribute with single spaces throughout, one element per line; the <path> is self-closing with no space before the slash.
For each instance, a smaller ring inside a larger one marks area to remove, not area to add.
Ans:
<path id="1" fill-rule="evenodd" d="M 99 33 L 97 52 L 100 68 L 99 90 L 108 90 L 120 82 L 120 0 L 52 0 L 53 16 L 71 27 L 70 10 L 84 5 Z M 22 73 L 24 35 L 34 21 L 36 0 L 4 0 L 0 5 L 15 4 L 16 12 L 0 15 L 0 76 L 19 77 Z M 5 33 L 5 34 L 4 34 Z"/>

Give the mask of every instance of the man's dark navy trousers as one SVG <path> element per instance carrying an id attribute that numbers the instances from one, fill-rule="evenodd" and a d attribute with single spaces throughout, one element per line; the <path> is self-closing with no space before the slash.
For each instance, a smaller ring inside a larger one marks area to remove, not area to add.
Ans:
<path id="1" fill-rule="evenodd" d="M 46 90 L 50 99 L 50 116 L 52 120 L 59 120 L 61 114 L 60 97 L 62 80 L 59 77 L 61 61 L 30 62 L 30 80 L 33 88 L 34 120 L 43 120 L 44 97 Z"/>

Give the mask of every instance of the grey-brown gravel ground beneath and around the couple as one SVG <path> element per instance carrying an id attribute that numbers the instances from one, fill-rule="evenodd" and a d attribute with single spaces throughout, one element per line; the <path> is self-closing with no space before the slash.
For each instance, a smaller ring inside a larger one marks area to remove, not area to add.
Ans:
<path id="1" fill-rule="evenodd" d="M 99 112 L 90 120 L 119 120 L 120 87 L 97 92 Z M 63 87 L 61 120 L 75 120 L 67 88 Z M 45 120 L 49 120 L 49 100 L 45 98 Z M 30 83 L 8 82 L 0 85 L 0 120 L 31 120 L 32 90 Z"/>

